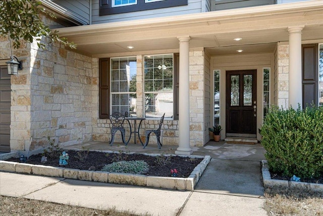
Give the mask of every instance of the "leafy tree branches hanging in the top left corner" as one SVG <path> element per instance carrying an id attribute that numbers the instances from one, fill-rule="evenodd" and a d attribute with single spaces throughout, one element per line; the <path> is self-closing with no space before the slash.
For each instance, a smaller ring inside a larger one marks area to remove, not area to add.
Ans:
<path id="1" fill-rule="evenodd" d="M 52 31 L 42 21 L 42 15 L 56 19 L 55 15 L 41 7 L 41 1 L 34 0 L 2 0 L 0 1 L 0 35 L 13 39 L 13 47 L 18 49 L 23 43 L 21 39 L 37 41 L 39 48 L 46 45 L 41 37 L 47 37 L 49 42 L 61 42 L 63 45 L 76 49 L 73 42 L 60 37 L 57 30 Z"/>

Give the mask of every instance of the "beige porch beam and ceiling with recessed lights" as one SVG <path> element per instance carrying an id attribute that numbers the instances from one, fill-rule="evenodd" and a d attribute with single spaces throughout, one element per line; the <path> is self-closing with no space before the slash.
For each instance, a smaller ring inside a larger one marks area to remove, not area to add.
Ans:
<path id="1" fill-rule="evenodd" d="M 191 37 L 190 48 L 210 55 L 273 52 L 275 42 L 288 41 L 288 27 L 304 26 L 302 40 L 323 38 L 321 1 L 234 9 L 164 18 L 57 29 L 74 41 L 77 52 L 92 57 L 136 55 L 179 49 L 178 36 Z M 233 38 L 241 37 L 235 41 Z M 133 46 L 134 49 L 128 49 Z"/>

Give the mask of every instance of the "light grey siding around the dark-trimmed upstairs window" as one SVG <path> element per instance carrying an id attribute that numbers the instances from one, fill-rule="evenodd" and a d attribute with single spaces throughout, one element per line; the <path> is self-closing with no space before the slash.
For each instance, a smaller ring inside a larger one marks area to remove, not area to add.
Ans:
<path id="1" fill-rule="evenodd" d="M 201 1 L 188 0 L 187 6 L 99 16 L 99 0 L 92 0 L 92 24 L 201 13 Z"/>

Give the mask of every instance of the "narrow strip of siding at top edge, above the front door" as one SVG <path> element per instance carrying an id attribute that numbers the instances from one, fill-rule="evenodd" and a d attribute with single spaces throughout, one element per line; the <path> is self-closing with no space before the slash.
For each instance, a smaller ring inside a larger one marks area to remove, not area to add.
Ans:
<path id="1" fill-rule="evenodd" d="M 212 11 L 220 11 L 235 8 L 247 8 L 263 5 L 273 5 L 275 0 L 216 0 L 211 1 Z"/>

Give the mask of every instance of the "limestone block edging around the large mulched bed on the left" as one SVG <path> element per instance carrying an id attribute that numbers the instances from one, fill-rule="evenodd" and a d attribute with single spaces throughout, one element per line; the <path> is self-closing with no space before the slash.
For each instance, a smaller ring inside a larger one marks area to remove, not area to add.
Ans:
<path id="1" fill-rule="evenodd" d="M 106 153 L 115 153 L 113 151 L 101 151 Z M 136 153 L 130 153 L 136 154 Z M 158 154 L 145 154 L 150 156 L 157 156 Z M 174 155 L 175 156 L 175 155 Z M 40 176 L 60 177 L 66 179 L 77 179 L 84 181 L 93 182 L 104 182 L 113 184 L 124 184 L 124 185 L 137 185 L 146 186 L 153 188 L 165 188 L 173 190 L 184 190 L 193 191 L 195 185 L 202 176 L 206 166 L 211 160 L 209 155 L 206 156 L 195 156 L 195 155 L 177 155 L 191 158 L 204 158 L 191 172 L 188 178 L 174 178 L 174 177 L 155 177 L 155 176 L 144 176 L 144 175 L 133 175 L 133 174 L 120 174 L 117 172 L 104 172 L 104 171 L 92 171 L 92 170 L 80 170 L 70 169 L 56 166 L 45 166 L 45 165 L 33 165 L 28 163 L 19 163 L 5 161 L 12 157 L 12 154 L 6 157 L 3 155 L 0 159 L 0 170 L 17 172 L 21 174 L 34 174 Z"/>

